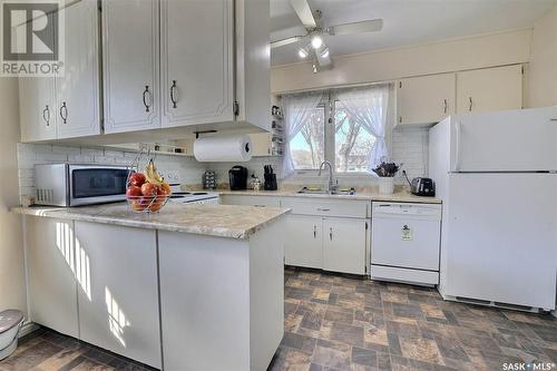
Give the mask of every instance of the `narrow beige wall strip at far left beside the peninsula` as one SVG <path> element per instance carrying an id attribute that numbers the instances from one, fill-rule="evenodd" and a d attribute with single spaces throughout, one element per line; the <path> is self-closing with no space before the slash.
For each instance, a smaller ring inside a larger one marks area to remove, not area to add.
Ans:
<path id="1" fill-rule="evenodd" d="M 19 140 L 17 79 L 0 78 L 0 311 L 19 309 L 27 313 L 21 216 L 9 208 L 18 203 L 17 141 Z"/>

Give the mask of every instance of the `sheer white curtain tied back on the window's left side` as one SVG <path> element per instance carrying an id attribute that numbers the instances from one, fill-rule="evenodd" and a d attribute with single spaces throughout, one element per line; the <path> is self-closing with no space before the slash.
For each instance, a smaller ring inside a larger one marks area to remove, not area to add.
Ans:
<path id="1" fill-rule="evenodd" d="M 322 92 L 306 92 L 282 97 L 285 123 L 284 137 L 286 139 L 282 173 L 284 177 L 294 173 L 294 164 L 292 162 L 292 154 L 290 153 L 290 143 L 304 127 L 311 110 L 317 107 L 322 96 Z"/>

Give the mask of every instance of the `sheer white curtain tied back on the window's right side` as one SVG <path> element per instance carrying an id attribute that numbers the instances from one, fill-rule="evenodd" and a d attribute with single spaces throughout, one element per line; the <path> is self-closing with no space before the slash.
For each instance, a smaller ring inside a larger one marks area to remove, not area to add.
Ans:
<path id="1" fill-rule="evenodd" d="M 375 137 L 375 144 L 368 158 L 368 172 L 372 173 L 373 168 L 388 156 L 385 128 L 389 85 L 339 91 L 336 99 L 351 119 Z"/>

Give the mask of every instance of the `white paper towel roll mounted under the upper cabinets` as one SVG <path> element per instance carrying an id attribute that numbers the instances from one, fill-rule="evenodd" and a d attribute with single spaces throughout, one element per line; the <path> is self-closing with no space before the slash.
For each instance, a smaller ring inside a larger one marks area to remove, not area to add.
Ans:
<path id="1" fill-rule="evenodd" d="M 252 152 L 248 135 L 206 137 L 194 141 L 194 156 L 201 163 L 248 162 Z"/>

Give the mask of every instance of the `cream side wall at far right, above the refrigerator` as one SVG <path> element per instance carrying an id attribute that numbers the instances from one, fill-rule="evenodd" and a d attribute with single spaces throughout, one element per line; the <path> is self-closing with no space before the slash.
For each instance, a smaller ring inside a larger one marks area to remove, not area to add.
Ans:
<path id="1" fill-rule="evenodd" d="M 534 25 L 528 95 L 530 107 L 557 105 L 557 6 Z"/>

